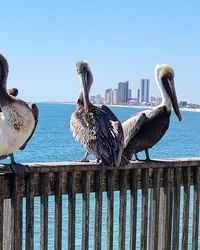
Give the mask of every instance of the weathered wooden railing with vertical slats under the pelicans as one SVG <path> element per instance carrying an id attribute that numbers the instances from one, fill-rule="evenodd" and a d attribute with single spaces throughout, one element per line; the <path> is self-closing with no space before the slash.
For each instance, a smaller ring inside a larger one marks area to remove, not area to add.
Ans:
<path id="1" fill-rule="evenodd" d="M 63 242 L 67 242 L 65 249 L 70 250 L 199 249 L 200 158 L 131 162 L 117 169 L 95 162 L 30 163 L 23 167 L 28 174 L 16 176 L 9 166 L 0 165 L 0 250 L 39 250 L 34 248 L 34 217 L 38 213 L 40 249 L 48 249 L 50 195 L 55 197 L 55 215 L 51 222 L 55 250 L 61 250 Z M 93 200 L 92 192 L 95 192 Z M 82 238 L 76 235 L 76 215 L 81 209 L 76 206 L 78 193 L 82 195 L 82 228 L 79 230 L 82 230 Z M 67 194 L 68 211 L 63 208 L 64 194 Z M 40 197 L 40 209 L 34 207 L 35 196 Z M 92 202 L 95 204 L 93 214 L 90 213 Z M 106 220 L 102 222 L 105 206 Z M 114 211 L 118 209 L 116 237 Z M 65 215 L 67 225 L 62 221 Z M 92 241 L 89 240 L 91 217 L 94 217 Z M 66 235 L 62 235 L 63 227 L 68 232 Z M 103 227 L 106 240 L 102 237 Z M 80 248 L 77 240 L 81 242 Z"/>

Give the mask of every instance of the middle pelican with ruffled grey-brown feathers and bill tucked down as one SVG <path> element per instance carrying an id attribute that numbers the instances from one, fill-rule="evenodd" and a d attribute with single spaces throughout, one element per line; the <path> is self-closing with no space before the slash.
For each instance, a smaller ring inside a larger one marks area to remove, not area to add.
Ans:
<path id="1" fill-rule="evenodd" d="M 88 154 L 92 154 L 106 166 L 126 165 L 128 161 L 122 156 L 124 136 L 120 121 L 107 106 L 96 107 L 90 103 L 93 76 L 88 63 L 79 61 L 76 68 L 82 87 L 70 123 L 74 137 L 87 150 L 82 161 L 87 161 Z"/>

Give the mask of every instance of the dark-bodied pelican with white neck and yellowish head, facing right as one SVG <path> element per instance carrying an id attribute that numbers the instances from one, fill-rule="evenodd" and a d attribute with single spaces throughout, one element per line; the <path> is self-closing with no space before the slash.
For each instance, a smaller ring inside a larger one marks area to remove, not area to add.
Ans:
<path id="1" fill-rule="evenodd" d="M 124 131 L 123 155 L 132 159 L 135 154 L 145 150 L 146 160 L 149 158 L 149 148 L 154 146 L 165 134 L 169 127 L 171 108 L 173 107 L 179 121 L 182 120 L 176 90 L 174 86 L 174 70 L 167 64 L 155 67 L 155 78 L 162 96 L 162 103 L 153 110 L 147 110 L 133 115 L 122 123 Z M 134 124 L 140 121 L 141 125 Z"/>

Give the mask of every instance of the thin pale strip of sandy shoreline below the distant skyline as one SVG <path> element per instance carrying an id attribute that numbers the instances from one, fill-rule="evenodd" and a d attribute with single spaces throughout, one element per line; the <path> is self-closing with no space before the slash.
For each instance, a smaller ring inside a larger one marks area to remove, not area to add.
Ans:
<path id="1" fill-rule="evenodd" d="M 66 105 L 76 105 L 76 102 L 57 102 L 57 101 L 45 101 L 40 103 L 48 103 L 48 104 L 66 104 Z M 95 104 L 96 106 L 101 106 L 102 104 Z M 133 105 L 107 105 L 108 107 L 116 107 L 116 108 L 138 108 L 138 109 L 154 109 L 156 107 L 152 106 L 133 106 Z M 199 108 L 180 108 L 181 111 L 186 112 L 200 112 Z"/>

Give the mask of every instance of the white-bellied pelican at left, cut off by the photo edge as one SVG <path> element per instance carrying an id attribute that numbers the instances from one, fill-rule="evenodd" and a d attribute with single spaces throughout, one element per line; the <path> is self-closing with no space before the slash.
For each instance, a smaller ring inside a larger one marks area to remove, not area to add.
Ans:
<path id="1" fill-rule="evenodd" d="M 15 174 L 23 173 L 15 162 L 14 152 L 24 149 L 35 131 L 38 109 L 17 99 L 17 89 L 7 91 L 8 63 L 0 54 L 0 159 L 10 157 Z"/>

